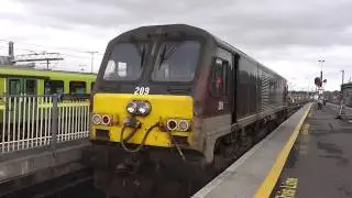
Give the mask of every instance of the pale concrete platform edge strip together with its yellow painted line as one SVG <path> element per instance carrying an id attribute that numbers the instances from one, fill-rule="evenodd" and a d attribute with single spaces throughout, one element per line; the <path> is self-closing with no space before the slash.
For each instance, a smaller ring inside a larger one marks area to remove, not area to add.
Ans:
<path id="1" fill-rule="evenodd" d="M 273 166 L 274 162 L 279 160 L 280 167 L 284 166 L 309 109 L 310 103 L 304 106 L 193 198 L 268 197 L 275 183 L 263 184 L 263 180 L 270 172 L 274 173 L 268 176 L 271 180 L 278 178 L 280 168 Z"/>

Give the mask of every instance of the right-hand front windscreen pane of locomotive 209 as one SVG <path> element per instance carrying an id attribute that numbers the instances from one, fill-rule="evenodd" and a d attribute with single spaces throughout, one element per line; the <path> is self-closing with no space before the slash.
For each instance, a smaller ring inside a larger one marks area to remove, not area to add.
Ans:
<path id="1" fill-rule="evenodd" d="M 199 54 L 199 42 L 164 42 L 157 54 L 152 79 L 156 81 L 193 80 Z"/>

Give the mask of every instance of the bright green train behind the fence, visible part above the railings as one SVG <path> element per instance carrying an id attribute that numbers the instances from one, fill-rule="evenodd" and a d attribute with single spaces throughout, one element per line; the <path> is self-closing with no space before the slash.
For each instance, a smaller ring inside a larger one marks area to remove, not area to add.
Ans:
<path id="1" fill-rule="evenodd" d="M 0 65 L 0 96 L 90 94 L 96 74 Z"/>

